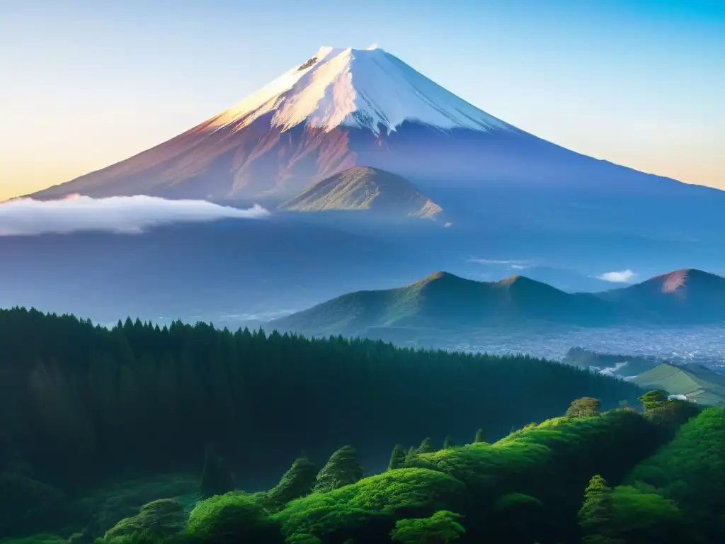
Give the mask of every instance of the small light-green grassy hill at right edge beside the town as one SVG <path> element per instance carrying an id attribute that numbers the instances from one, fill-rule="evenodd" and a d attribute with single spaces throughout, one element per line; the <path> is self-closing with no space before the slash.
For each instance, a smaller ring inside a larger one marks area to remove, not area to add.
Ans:
<path id="1" fill-rule="evenodd" d="M 697 404 L 725 404 L 725 376 L 701 365 L 662 363 L 639 374 L 632 382 L 645 389 L 662 389 Z"/>

